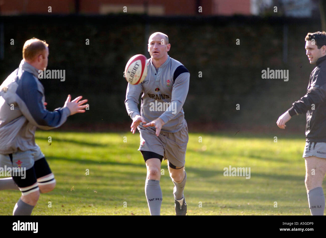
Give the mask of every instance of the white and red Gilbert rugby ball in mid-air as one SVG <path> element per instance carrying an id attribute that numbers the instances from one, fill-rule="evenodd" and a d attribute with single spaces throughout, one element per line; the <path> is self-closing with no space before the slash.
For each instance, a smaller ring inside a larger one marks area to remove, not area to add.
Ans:
<path id="1" fill-rule="evenodd" d="M 147 76 L 148 61 L 144 55 L 134 55 L 126 64 L 125 76 L 129 84 L 140 84 Z"/>

